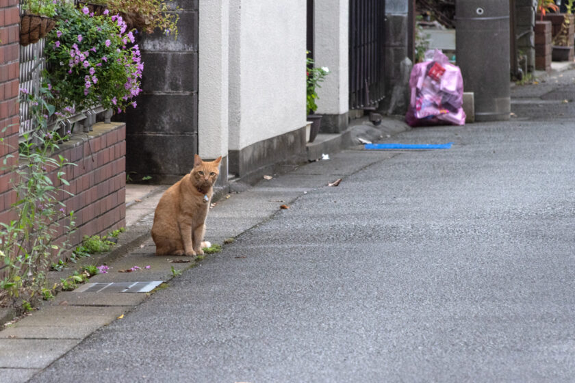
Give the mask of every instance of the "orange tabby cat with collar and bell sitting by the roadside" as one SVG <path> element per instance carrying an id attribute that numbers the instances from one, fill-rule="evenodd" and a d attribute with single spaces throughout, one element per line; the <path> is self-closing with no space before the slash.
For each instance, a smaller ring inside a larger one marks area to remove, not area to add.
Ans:
<path id="1" fill-rule="evenodd" d="M 201 255 L 205 217 L 218 179 L 222 157 L 204 162 L 194 155 L 194 168 L 160 198 L 154 213 L 152 239 L 156 255 Z"/>

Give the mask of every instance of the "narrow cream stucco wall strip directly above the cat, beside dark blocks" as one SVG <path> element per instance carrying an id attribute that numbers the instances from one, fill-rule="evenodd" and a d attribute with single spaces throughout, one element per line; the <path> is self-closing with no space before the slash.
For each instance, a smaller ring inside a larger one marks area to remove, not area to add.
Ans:
<path id="1" fill-rule="evenodd" d="M 229 0 L 199 3 L 198 146 L 202 158 L 228 150 Z"/>

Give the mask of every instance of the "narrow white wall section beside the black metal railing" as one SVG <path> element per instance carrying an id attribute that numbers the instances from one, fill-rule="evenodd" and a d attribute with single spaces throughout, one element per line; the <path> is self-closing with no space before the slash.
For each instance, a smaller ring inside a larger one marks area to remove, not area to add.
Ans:
<path id="1" fill-rule="evenodd" d="M 316 0 L 314 60 L 330 74 L 318 90 L 318 114 L 344 114 L 349 108 L 349 0 Z"/>

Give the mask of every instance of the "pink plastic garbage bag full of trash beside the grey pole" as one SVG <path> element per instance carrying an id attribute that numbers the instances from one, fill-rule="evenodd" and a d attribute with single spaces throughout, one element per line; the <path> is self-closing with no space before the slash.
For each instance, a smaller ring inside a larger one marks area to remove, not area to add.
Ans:
<path id="1" fill-rule="evenodd" d="M 465 124 L 461 70 L 438 49 L 427 51 L 425 57 L 411 70 L 405 121 L 411 127 Z"/>

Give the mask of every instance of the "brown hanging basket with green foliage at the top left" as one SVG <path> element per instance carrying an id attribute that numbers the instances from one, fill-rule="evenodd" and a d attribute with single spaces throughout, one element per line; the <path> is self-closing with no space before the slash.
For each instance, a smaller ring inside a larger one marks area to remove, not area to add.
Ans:
<path id="1" fill-rule="evenodd" d="M 44 38 L 55 25 L 57 1 L 26 0 L 20 16 L 20 44 L 24 47 Z"/>

